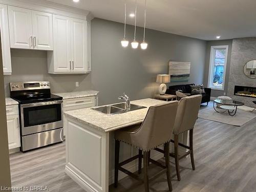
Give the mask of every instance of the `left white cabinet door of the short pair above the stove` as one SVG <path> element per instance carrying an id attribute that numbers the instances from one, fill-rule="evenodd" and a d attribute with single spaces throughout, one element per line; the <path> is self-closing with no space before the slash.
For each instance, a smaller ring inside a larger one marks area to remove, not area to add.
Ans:
<path id="1" fill-rule="evenodd" d="M 31 10 L 8 6 L 11 48 L 33 49 Z"/>

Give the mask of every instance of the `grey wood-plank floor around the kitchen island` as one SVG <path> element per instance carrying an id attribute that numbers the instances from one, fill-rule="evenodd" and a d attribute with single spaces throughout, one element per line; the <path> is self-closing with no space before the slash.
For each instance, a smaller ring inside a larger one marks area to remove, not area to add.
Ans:
<path id="1" fill-rule="evenodd" d="M 177 181 L 171 158 L 173 191 L 256 191 L 256 119 L 240 127 L 198 119 L 194 151 L 196 170 L 192 170 L 190 158 L 181 160 L 181 181 Z M 10 155 L 10 164 L 13 186 L 46 185 L 49 191 L 83 191 L 64 173 L 64 143 Z M 154 177 L 151 191 L 168 189 L 166 174 L 160 170 L 150 165 L 149 174 Z M 126 177 L 118 188 L 110 186 L 110 191 L 135 192 L 143 191 L 143 187 L 142 182 Z"/>

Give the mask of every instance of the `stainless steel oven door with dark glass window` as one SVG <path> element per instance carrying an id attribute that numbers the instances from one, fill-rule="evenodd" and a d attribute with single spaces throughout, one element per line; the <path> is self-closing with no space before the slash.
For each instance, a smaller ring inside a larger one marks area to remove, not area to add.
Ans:
<path id="1" fill-rule="evenodd" d="M 63 127 L 62 100 L 20 105 L 22 135 Z"/>

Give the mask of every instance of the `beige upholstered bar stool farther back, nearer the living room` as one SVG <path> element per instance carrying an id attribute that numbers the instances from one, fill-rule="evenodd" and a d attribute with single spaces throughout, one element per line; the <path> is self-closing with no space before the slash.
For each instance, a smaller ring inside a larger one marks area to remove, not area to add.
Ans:
<path id="1" fill-rule="evenodd" d="M 193 129 L 197 120 L 198 111 L 200 108 L 200 103 L 202 100 L 202 95 L 193 95 L 188 97 L 183 97 L 178 104 L 177 115 L 174 125 L 174 140 L 170 142 L 174 143 L 174 154 L 169 153 L 171 157 L 175 158 L 175 166 L 177 178 L 180 181 L 180 168 L 179 160 L 190 154 L 191 164 L 193 170 L 195 170 L 194 162 L 194 152 L 193 152 Z M 179 143 L 179 135 L 189 130 L 189 146 Z M 178 145 L 187 148 L 189 151 L 184 155 L 179 156 Z M 156 151 L 162 152 L 160 148 L 156 148 Z"/>

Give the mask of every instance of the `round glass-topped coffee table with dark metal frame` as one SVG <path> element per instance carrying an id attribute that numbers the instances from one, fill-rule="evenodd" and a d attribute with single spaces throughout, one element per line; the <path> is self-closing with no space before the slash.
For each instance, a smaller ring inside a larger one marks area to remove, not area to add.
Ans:
<path id="1" fill-rule="evenodd" d="M 225 110 L 223 112 L 220 112 L 216 109 L 215 103 L 221 104 L 219 108 Z M 234 101 L 234 100 L 225 100 L 225 99 L 215 99 L 214 100 L 214 110 L 218 113 L 224 113 L 228 111 L 228 114 L 230 116 L 234 116 L 237 113 L 238 106 L 244 105 L 243 102 L 240 101 Z"/>

